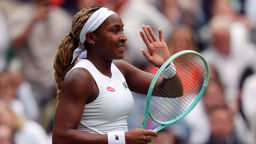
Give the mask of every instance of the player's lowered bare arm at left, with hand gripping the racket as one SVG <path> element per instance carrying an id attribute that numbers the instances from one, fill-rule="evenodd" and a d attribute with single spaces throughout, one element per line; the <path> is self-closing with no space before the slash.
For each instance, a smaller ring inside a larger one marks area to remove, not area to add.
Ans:
<path id="1" fill-rule="evenodd" d="M 91 134 L 77 130 L 84 106 L 96 95 L 98 88 L 91 74 L 83 68 L 72 70 L 63 81 L 61 98 L 53 124 L 53 144 L 107 144 L 107 135 Z M 151 142 L 147 136 L 155 132 L 134 129 L 125 133 L 126 144 Z"/>

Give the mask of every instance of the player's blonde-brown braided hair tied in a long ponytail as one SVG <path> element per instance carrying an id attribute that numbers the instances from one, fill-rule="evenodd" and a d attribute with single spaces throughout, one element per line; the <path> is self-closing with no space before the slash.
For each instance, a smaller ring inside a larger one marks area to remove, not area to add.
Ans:
<path id="1" fill-rule="evenodd" d="M 80 32 L 89 19 L 89 17 L 101 6 L 92 6 L 88 8 L 84 8 L 79 11 L 73 18 L 72 26 L 71 26 L 71 34 L 74 36 L 72 38 L 69 34 L 67 34 L 61 41 L 59 48 L 55 55 L 54 60 L 54 77 L 57 83 L 57 99 L 60 100 L 61 96 L 61 87 L 64 80 L 64 77 L 68 73 L 68 71 L 74 66 L 74 63 L 71 64 L 73 58 L 73 52 L 79 46 L 79 36 Z"/>

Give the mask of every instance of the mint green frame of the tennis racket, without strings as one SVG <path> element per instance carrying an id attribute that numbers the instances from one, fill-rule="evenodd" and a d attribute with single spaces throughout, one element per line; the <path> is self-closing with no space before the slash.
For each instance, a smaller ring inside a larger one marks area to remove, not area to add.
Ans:
<path id="1" fill-rule="evenodd" d="M 203 61 L 203 63 L 205 64 L 205 68 L 206 68 L 206 78 L 204 79 L 204 83 L 203 83 L 203 86 L 198 94 L 198 97 L 195 99 L 195 101 L 193 102 L 193 104 L 184 112 L 182 113 L 181 115 L 179 115 L 178 117 L 170 120 L 170 121 L 167 121 L 167 122 L 160 122 L 160 121 L 157 121 L 153 118 L 152 114 L 150 113 L 150 108 L 149 108 L 149 105 L 150 105 L 150 99 L 151 99 L 151 94 L 153 92 L 153 89 L 154 89 L 154 86 L 155 86 L 155 83 L 156 81 L 158 80 L 158 77 L 160 76 L 160 74 L 162 73 L 162 71 L 174 60 L 176 59 L 177 57 L 181 56 L 181 55 L 184 55 L 184 54 L 195 54 L 197 55 L 198 57 L 200 57 Z M 206 59 L 201 55 L 199 54 L 198 52 L 195 52 L 195 51 L 192 51 L 192 50 L 184 50 L 184 51 L 180 51 L 174 55 L 172 55 L 161 67 L 160 69 L 157 71 L 155 77 L 153 78 L 151 84 L 150 84 L 150 87 L 149 87 L 149 90 L 148 90 L 148 94 L 147 94 L 147 100 L 146 100 L 146 108 L 145 108 L 145 113 L 144 113 L 144 118 L 143 118 L 143 121 L 142 121 L 142 125 L 141 125 L 141 129 L 145 129 L 146 127 L 146 123 L 147 123 L 147 118 L 148 118 L 148 115 L 151 117 L 151 119 L 153 121 L 155 121 L 156 123 L 158 124 L 161 124 L 159 127 L 155 128 L 153 131 L 154 132 L 158 132 L 160 131 L 161 129 L 175 123 L 176 121 L 180 120 L 181 118 L 183 118 L 184 116 L 186 116 L 195 106 L 196 104 L 199 102 L 199 100 L 202 98 L 204 92 L 205 92 L 205 89 L 208 85 L 208 82 L 209 82 L 209 65 L 206 61 Z"/>

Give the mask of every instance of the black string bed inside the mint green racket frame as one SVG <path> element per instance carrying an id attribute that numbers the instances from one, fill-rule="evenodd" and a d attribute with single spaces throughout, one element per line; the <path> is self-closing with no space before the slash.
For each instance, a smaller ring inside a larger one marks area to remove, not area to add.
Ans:
<path id="1" fill-rule="evenodd" d="M 150 113 L 160 122 L 175 119 L 187 111 L 198 98 L 206 76 L 205 64 L 197 55 L 184 54 L 173 60 L 173 63 L 179 77 L 173 77 L 172 80 L 158 77 L 150 100 Z M 181 97 L 175 97 L 180 94 L 180 85 L 175 82 L 178 79 L 183 85 Z M 174 97 L 170 96 L 170 92 Z"/>

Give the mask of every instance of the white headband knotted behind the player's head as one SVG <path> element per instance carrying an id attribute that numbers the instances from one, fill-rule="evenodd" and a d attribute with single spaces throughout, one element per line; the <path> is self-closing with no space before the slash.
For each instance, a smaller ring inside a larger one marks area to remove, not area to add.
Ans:
<path id="1" fill-rule="evenodd" d="M 102 7 L 95 11 L 90 18 L 87 20 L 87 22 L 84 24 L 81 33 L 80 33 L 80 44 L 79 47 L 76 48 L 76 50 L 73 53 L 73 61 L 78 57 L 79 58 L 86 58 L 87 57 L 87 50 L 83 43 L 86 40 L 86 33 L 87 32 L 93 32 L 95 31 L 109 16 L 112 14 L 116 14 L 115 12 L 111 11 L 108 8 Z"/>

